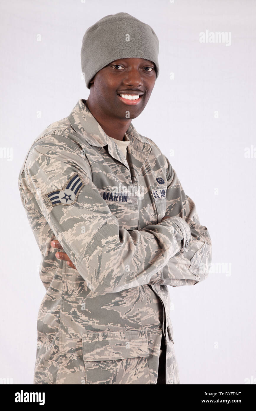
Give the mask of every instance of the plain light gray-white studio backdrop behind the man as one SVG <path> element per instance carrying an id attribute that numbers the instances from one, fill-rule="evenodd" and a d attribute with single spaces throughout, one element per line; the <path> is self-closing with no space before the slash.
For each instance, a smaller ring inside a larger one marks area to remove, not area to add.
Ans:
<path id="1" fill-rule="evenodd" d="M 89 95 L 80 65 L 85 30 L 127 12 L 150 24 L 160 43 L 159 78 L 132 123 L 168 157 L 212 238 L 209 277 L 169 287 L 180 381 L 256 383 L 256 158 L 244 157 L 256 147 L 256 1 L 15 0 L 1 9 L 0 146 L 13 158 L 0 158 L 0 377 L 33 383 L 45 293 L 19 170 L 38 134 Z M 200 43 L 206 30 L 231 32 L 231 45 Z"/>

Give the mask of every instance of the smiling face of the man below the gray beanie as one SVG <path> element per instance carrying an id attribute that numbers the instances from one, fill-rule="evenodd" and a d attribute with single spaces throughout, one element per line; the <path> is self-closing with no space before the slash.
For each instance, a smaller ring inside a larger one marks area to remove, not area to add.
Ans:
<path id="1" fill-rule="evenodd" d="M 90 81 L 90 101 L 110 117 L 136 118 L 148 103 L 155 81 L 152 61 L 118 59 L 97 72 Z"/>

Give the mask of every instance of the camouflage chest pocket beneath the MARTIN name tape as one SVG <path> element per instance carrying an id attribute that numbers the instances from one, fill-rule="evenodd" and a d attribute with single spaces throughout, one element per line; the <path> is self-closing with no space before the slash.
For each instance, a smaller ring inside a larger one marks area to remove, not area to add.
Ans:
<path id="1" fill-rule="evenodd" d="M 138 229 L 138 199 L 131 193 L 127 195 L 110 190 L 98 189 L 111 213 L 118 219 L 120 229 Z"/>

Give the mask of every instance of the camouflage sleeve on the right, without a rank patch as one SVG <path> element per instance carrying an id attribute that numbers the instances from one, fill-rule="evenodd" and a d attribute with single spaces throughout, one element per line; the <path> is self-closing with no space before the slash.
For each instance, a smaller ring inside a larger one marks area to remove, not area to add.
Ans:
<path id="1" fill-rule="evenodd" d="M 163 267 L 159 284 L 195 285 L 208 276 L 212 261 L 212 242 L 207 227 L 199 222 L 194 201 L 185 194 L 177 173 L 167 158 L 166 162 L 168 171 L 165 217 L 169 216 L 173 220 L 179 217 L 176 223 L 182 231 L 183 246 Z"/>

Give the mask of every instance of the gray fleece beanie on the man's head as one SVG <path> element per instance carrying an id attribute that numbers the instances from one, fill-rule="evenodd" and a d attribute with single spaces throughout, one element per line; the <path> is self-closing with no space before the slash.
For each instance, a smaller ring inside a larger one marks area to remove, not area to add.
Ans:
<path id="1" fill-rule="evenodd" d="M 83 36 L 81 67 L 86 87 L 99 70 L 120 58 L 145 58 L 159 74 L 159 41 L 150 25 L 128 13 L 109 14 L 89 27 Z"/>

